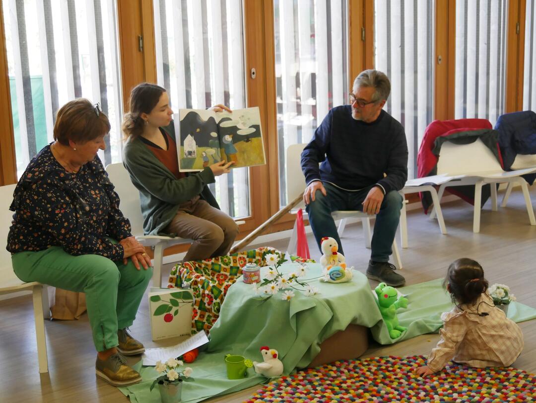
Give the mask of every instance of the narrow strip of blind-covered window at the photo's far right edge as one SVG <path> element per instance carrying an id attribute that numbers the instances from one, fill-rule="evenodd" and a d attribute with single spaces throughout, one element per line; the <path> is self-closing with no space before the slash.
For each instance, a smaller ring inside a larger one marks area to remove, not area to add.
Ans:
<path id="1" fill-rule="evenodd" d="M 534 43 L 536 30 L 534 30 L 534 2 L 528 1 L 525 10 L 525 68 L 523 75 L 523 110 L 536 111 L 536 52 Z"/>

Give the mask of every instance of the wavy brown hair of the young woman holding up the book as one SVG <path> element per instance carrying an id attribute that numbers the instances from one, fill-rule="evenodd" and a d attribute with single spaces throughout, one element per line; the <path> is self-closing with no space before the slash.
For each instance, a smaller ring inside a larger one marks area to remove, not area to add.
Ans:
<path id="1" fill-rule="evenodd" d="M 136 85 L 130 92 L 130 112 L 123 116 L 123 133 L 125 137 L 139 136 L 143 133 L 145 122 L 140 114 L 151 113 L 157 106 L 162 93 L 166 92 L 156 84 L 142 83 Z"/>

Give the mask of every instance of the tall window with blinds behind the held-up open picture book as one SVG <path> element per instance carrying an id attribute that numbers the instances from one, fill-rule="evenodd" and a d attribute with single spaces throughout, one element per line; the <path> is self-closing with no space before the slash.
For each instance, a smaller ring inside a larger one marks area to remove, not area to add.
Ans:
<path id="1" fill-rule="evenodd" d="M 175 113 L 216 104 L 244 108 L 241 0 L 154 0 L 158 84 Z M 211 185 L 223 211 L 250 214 L 248 168 L 236 168 Z"/>

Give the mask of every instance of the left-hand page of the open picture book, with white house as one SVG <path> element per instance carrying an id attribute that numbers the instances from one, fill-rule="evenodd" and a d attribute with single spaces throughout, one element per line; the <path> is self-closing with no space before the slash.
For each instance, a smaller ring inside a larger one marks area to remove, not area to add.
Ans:
<path id="1" fill-rule="evenodd" d="M 180 109 L 178 119 L 176 115 L 179 170 L 202 171 L 204 167 L 217 163 L 220 160 L 220 141 L 215 113 L 204 109 Z"/>

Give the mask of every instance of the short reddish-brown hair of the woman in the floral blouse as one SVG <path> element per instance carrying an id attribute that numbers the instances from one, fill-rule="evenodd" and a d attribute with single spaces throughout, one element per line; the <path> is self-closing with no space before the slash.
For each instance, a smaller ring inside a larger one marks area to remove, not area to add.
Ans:
<path id="1" fill-rule="evenodd" d="M 97 115 L 98 112 L 98 115 Z M 85 98 L 67 102 L 59 108 L 54 124 L 54 140 L 69 145 L 69 140 L 87 143 L 110 131 L 108 116 Z"/>

